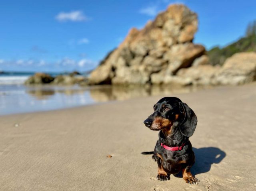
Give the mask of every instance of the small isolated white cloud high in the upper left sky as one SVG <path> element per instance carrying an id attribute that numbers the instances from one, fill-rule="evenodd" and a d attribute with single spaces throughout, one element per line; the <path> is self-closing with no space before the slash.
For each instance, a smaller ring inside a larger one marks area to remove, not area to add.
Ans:
<path id="1" fill-rule="evenodd" d="M 65 22 L 65 21 L 78 22 L 78 21 L 88 20 L 88 18 L 84 15 L 82 11 L 60 12 L 55 18 L 60 22 Z"/>

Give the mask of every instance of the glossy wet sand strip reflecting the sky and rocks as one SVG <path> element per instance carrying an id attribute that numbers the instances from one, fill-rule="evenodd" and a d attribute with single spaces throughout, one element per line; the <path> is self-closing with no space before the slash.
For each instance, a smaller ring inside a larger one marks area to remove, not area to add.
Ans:
<path id="1" fill-rule="evenodd" d="M 190 93 L 213 87 L 0 85 L 0 115 L 58 110 L 113 100 Z"/>

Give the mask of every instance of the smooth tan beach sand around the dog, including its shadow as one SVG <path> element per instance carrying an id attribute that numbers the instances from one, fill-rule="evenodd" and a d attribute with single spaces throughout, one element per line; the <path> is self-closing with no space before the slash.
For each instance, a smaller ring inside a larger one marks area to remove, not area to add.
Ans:
<path id="1" fill-rule="evenodd" d="M 157 181 L 156 162 L 140 154 L 158 139 L 143 124 L 161 98 L 153 96 L 1 116 L 0 190 L 256 190 L 256 84 L 172 96 L 198 117 L 198 185 Z"/>

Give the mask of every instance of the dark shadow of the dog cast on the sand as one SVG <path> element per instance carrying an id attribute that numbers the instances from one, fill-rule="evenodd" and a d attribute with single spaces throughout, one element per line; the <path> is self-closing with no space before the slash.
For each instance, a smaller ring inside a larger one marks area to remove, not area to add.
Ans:
<path id="1" fill-rule="evenodd" d="M 210 171 L 212 164 L 220 163 L 226 156 L 224 151 L 216 147 L 203 147 L 198 149 L 193 147 L 193 151 L 196 156 L 196 162 L 191 168 L 193 175 Z M 182 174 L 178 173 L 175 176 L 182 177 Z"/>

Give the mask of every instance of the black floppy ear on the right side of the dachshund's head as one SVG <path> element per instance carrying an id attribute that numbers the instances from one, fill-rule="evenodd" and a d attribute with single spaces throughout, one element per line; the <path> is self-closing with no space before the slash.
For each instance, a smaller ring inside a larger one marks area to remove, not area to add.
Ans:
<path id="1" fill-rule="evenodd" d="M 196 129 L 196 114 L 186 103 L 179 102 L 179 104 L 180 112 L 184 113 L 184 120 L 180 124 L 180 132 L 186 137 L 191 137 Z"/>

